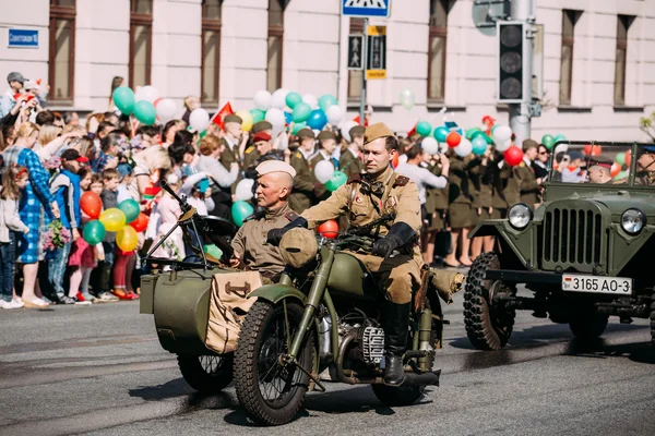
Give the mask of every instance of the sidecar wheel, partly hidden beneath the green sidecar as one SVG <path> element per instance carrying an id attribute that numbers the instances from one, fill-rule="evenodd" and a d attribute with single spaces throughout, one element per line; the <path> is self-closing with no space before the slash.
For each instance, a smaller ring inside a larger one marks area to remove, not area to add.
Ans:
<path id="1" fill-rule="evenodd" d="M 233 354 L 178 354 L 178 365 L 184 380 L 203 393 L 218 393 L 233 379 Z"/>

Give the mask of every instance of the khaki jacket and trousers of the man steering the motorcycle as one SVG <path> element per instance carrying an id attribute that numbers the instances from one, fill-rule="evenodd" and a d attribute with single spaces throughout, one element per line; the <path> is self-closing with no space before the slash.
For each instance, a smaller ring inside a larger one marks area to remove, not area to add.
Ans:
<path id="1" fill-rule="evenodd" d="M 352 178 L 334 191 L 330 198 L 305 210 L 301 216 L 307 219 L 309 228 L 314 229 L 323 221 L 335 219 L 340 214 L 346 214 L 352 226 L 366 226 L 381 215 L 395 213 L 394 222 L 382 226 L 380 235 L 385 235 L 393 223 L 401 221 L 418 233 L 421 218 L 416 184 L 407 178 L 395 174 L 391 167 L 373 182 L 382 184 L 382 194 L 362 192 L 359 180 Z M 424 265 L 418 244 L 414 246 L 412 254 L 401 254 L 386 259 L 364 253 L 350 252 L 350 254 L 371 271 L 377 272 L 389 300 L 395 304 L 406 304 L 412 301 L 413 289 L 420 286 L 420 268 Z"/>

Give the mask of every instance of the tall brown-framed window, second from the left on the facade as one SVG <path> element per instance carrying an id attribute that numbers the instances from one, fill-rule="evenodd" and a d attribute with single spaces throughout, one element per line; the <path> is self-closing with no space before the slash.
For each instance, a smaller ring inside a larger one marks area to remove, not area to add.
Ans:
<path id="1" fill-rule="evenodd" d="M 153 0 L 130 0 L 130 87 L 150 85 Z"/>

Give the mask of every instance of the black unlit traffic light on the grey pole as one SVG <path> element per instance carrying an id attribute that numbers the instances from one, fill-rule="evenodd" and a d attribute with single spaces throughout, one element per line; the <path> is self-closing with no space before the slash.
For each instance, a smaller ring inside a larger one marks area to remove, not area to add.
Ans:
<path id="1" fill-rule="evenodd" d="M 498 22 L 498 101 L 527 102 L 529 95 L 529 69 L 525 66 L 526 47 L 524 23 Z"/>

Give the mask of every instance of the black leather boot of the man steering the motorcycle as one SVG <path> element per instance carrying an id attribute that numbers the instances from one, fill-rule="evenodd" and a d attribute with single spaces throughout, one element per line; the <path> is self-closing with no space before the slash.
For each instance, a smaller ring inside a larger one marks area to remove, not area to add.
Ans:
<path id="1" fill-rule="evenodd" d="M 384 384 L 401 386 L 405 382 L 403 354 L 407 349 L 410 303 L 386 302 L 384 320 Z"/>

